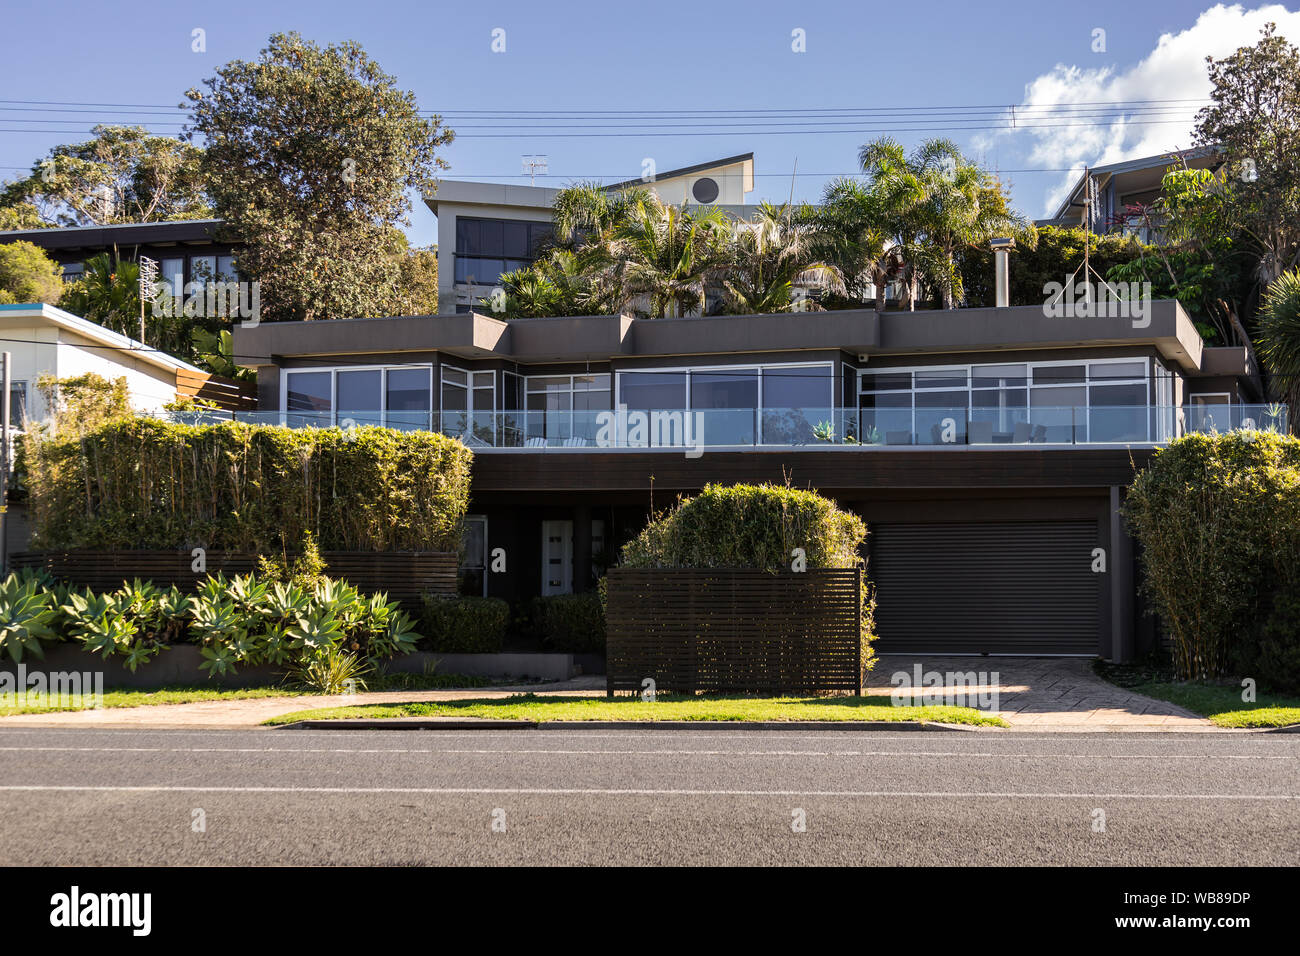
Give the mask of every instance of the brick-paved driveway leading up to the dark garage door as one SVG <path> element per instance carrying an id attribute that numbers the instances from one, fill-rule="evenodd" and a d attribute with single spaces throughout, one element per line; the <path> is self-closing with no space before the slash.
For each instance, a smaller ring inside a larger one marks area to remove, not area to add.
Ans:
<path id="1" fill-rule="evenodd" d="M 914 680 L 916 665 L 922 675 L 935 671 L 945 680 L 949 672 L 975 671 L 996 691 L 994 709 L 1015 730 L 1219 730 L 1190 710 L 1102 680 L 1093 672 L 1092 661 L 1078 657 L 883 654 L 867 685 L 894 687 L 892 678 L 898 672 Z"/>

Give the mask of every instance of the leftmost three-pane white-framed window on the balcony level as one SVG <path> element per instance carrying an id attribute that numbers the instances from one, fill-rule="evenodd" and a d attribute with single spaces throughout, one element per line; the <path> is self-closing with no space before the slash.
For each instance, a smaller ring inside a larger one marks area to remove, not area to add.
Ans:
<path id="1" fill-rule="evenodd" d="M 285 424 L 428 429 L 432 381 L 429 365 L 289 369 L 282 385 Z"/>

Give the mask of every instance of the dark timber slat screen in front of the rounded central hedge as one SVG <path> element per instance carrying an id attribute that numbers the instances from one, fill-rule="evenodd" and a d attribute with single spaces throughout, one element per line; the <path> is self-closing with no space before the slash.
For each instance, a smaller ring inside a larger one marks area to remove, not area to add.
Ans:
<path id="1" fill-rule="evenodd" d="M 862 574 L 614 568 L 607 689 L 862 693 Z"/>

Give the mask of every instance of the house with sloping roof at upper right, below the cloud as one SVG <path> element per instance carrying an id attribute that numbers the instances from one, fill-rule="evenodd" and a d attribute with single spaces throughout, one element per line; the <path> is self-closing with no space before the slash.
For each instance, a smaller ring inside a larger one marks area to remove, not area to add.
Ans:
<path id="1" fill-rule="evenodd" d="M 1122 233 L 1136 235 L 1143 242 L 1160 242 L 1158 221 L 1148 221 L 1143 209 L 1160 198 L 1160 185 L 1170 169 L 1186 165 L 1188 169 L 1217 170 L 1223 155 L 1213 147 L 1175 150 L 1158 156 L 1109 163 L 1080 173 L 1070 193 L 1061 200 L 1056 215 L 1037 220 L 1036 225 L 1082 226 L 1091 225 L 1093 233 Z M 1092 209 L 1086 216 L 1088 177 L 1092 177 Z"/>

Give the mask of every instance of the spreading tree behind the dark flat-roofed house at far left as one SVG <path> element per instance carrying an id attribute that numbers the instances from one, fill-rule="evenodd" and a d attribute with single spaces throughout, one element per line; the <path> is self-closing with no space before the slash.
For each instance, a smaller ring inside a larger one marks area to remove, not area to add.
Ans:
<path id="1" fill-rule="evenodd" d="M 56 146 L 9 183 L 0 207 L 43 226 L 209 219 L 202 150 L 143 126 L 95 126 L 94 139 Z M 22 225 L 20 228 L 34 228 Z"/>

